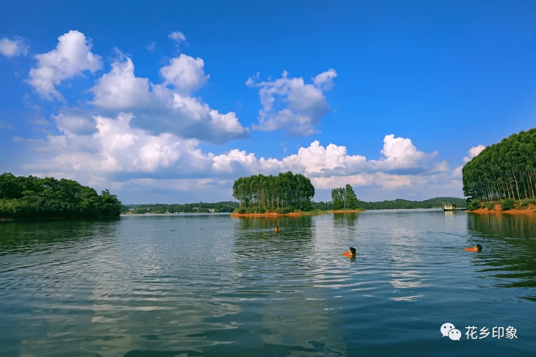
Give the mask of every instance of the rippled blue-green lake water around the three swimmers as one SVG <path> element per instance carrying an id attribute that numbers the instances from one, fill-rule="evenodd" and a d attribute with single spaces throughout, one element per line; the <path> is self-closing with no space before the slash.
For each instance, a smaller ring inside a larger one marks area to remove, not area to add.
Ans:
<path id="1" fill-rule="evenodd" d="M 533 356 L 535 312 L 534 215 L 0 224 L 2 357 Z"/>

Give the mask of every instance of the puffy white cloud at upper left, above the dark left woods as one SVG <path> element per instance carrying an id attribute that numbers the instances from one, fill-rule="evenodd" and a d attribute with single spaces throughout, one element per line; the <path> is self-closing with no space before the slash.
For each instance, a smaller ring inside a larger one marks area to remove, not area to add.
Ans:
<path id="1" fill-rule="evenodd" d="M 28 83 L 46 100 L 63 100 L 56 89 L 63 80 L 102 68 L 101 57 L 91 52 L 91 44 L 78 31 L 59 36 L 56 49 L 35 58 L 38 66 L 30 70 Z"/>

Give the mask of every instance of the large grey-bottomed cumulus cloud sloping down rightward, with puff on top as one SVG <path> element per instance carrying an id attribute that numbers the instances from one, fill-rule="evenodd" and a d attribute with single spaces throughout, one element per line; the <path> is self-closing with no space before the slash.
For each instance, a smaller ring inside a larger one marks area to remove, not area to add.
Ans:
<path id="1" fill-rule="evenodd" d="M 209 78 L 204 74 L 202 59 L 181 55 L 174 58 L 170 66 L 163 67 L 161 73 L 166 83 L 173 84 L 173 89 L 136 77 L 130 58 L 119 60 L 91 89 L 94 93 L 91 103 L 102 109 L 132 112 L 135 126 L 153 132 L 174 133 L 213 143 L 249 135 L 236 113 L 221 113 L 189 94 Z"/>

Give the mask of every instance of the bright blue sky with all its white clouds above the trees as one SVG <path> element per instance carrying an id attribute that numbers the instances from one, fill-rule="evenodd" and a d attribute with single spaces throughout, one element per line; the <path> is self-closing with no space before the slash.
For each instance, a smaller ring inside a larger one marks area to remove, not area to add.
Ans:
<path id="1" fill-rule="evenodd" d="M 233 200 L 288 170 L 366 201 L 463 197 L 536 126 L 536 3 L 9 2 L 0 171 L 123 203 Z"/>

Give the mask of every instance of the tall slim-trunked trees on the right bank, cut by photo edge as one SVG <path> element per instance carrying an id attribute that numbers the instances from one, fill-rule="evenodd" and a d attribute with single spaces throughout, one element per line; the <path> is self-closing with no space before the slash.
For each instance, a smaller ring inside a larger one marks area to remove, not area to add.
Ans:
<path id="1" fill-rule="evenodd" d="M 462 173 L 468 200 L 536 198 L 536 128 L 486 147 Z"/>

